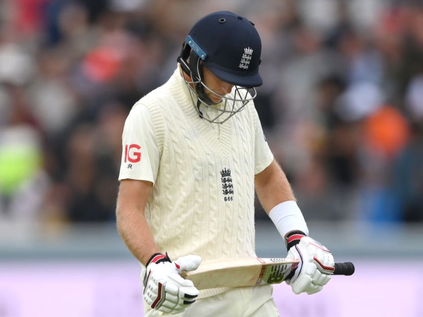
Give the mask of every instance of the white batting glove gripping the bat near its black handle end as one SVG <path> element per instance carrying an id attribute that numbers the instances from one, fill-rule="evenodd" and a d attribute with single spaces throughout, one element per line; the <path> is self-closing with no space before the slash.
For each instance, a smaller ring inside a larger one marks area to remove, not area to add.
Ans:
<path id="1" fill-rule="evenodd" d="M 295 294 L 314 294 L 322 290 L 333 274 L 334 259 L 322 244 L 303 234 L 288 236 L 288 257 L 300 259 L 293 276 L 286 280 Z"/>

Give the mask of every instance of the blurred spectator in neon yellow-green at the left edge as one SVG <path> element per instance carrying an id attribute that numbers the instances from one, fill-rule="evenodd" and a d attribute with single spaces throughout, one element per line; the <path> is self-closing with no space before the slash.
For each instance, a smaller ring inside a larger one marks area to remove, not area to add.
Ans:
<path id="1" fill-rule="evenodd" d="M 32 221 L 43 211 L 49 179 L 42 169 L 42 136 L 20 87 L 8 85 L 0 124 L 0 219 Z"/>

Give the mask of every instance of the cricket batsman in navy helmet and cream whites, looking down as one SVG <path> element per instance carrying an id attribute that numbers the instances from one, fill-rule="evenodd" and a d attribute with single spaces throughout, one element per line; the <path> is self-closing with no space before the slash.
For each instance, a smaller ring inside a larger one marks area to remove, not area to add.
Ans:
<path id="1" fill-rule="evenodd" d="M 145 316 L 277 317 L 272 286 L 198 291 L 179 274 L 202 260 L 257 257 L 254 200 L 298 268 L 294 293 L 331 279 L 331 252 L 308 236 L 287 177 L 254 106 L 261 39 L 253 22 L 210 13 L 187 34 L 168 81 L 137 101 L 125 122 L 117 227 L 142 265 Z"/>

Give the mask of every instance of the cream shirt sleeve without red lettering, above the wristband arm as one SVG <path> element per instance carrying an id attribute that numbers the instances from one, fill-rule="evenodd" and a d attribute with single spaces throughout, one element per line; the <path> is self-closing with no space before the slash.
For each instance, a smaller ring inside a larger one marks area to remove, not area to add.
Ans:
<path id="1" fill-rule="evenodd" d="M 254 109 L 254 115 L 255 115 L 255 134 L 256 134 L 256 140 L 255 140 L 255 149 L 254 149 L 254 155 L 255 155 L 255 167 L 254 167 L 254 173 L 259 174 L 262 172 L 266 167 L 270 165 L 273 161 L 273 153 L 270 150 L 269 145 L 267 144 L 266 137 L 263 133 L 263 128 L 260 123 L 259 115 L 257 111 Z"/>

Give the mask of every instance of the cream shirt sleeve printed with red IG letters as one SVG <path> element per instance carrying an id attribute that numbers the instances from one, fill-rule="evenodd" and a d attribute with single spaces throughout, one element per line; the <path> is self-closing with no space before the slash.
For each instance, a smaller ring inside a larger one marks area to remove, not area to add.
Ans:
<path id="1" fill-rule="evenodd" d="M 123 128 L 119 180 L 146 180 L 154 184 L 159 157 L 150 112 L 145 105 L 135 104 Z"/>

